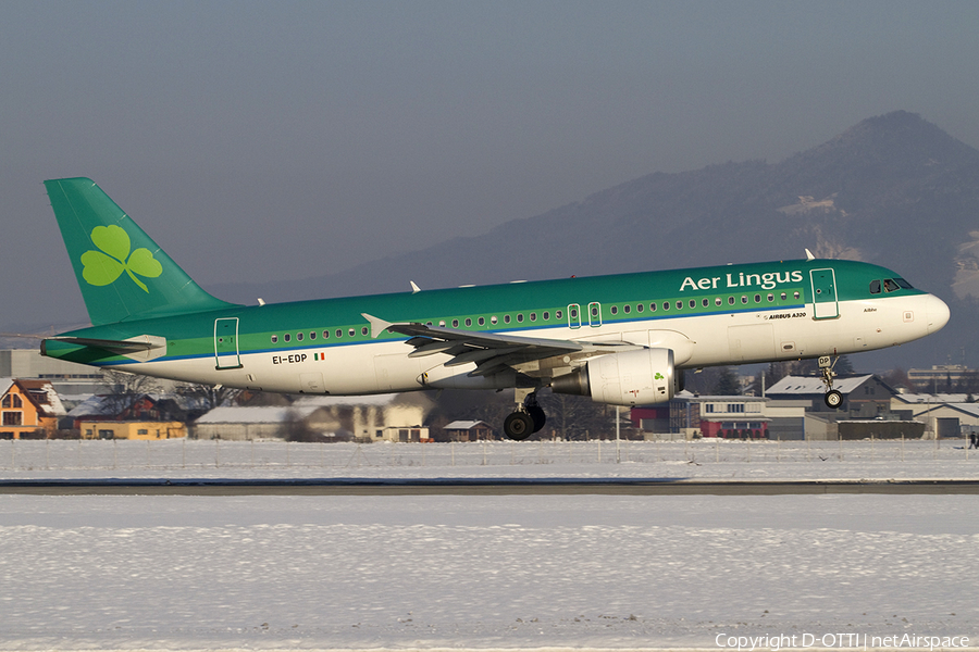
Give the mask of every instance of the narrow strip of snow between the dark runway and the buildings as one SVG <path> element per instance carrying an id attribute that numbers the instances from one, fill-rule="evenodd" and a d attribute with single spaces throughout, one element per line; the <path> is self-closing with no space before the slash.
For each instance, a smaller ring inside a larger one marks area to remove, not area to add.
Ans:
<path id="1" fill-rule="evenodd" d="M 977 462 L 968 440 L 482 441 L 468 443 L 299 443 L 171 439 L 10 440 L 0 472 L 171 469 L 350 469 L 685 463 L 850 464 Z"/>

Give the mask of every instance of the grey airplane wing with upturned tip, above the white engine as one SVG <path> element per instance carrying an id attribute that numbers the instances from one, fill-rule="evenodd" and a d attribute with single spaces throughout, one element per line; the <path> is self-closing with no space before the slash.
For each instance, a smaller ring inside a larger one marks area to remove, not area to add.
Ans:
<path id="1" fill-rule="evenodd" d="M 476 333 L 458 328 L 426 326 L 419 323 L 385 322 L 367 313 L 362 316 L 371 324 L 371 337 L 376 338 L 385 330 L 408 336 L 406 343 L 414 347 L 409 358 L 422 358 L 435 353 L 451 355 L 445 366 L 460 366 L 474 363 L 476 368 L 470 376 L 486 376 L 511 367 L 530 376 L 547 376 L 547 369 L 571 366 L 572 361 L 596 354 L 611 353 L 629 349 L 642 349 L 625 343 L 592 343 L 515 335 Z M 548 359 L 560 359 L 560 363 L 533 364 Z"/>

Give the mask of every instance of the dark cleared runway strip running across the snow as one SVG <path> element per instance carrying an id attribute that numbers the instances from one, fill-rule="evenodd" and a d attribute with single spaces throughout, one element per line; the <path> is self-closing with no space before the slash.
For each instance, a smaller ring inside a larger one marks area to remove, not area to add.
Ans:
<path id="1" fill-rule="evenodd" d="M 88 478 L 5 479 L 30 496 L 793 496 L 977 494 L 976 479 L 704 480 L 676 478 Z"/>

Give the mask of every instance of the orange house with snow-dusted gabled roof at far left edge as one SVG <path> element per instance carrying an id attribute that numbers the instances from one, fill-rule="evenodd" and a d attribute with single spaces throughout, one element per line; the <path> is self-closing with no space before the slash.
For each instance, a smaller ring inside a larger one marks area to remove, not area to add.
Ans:
<path id="1" fill-rule="evenodd" d="M 47 439 L 64 406 L 47 380 L 0 378 L 0 439 Z"/>

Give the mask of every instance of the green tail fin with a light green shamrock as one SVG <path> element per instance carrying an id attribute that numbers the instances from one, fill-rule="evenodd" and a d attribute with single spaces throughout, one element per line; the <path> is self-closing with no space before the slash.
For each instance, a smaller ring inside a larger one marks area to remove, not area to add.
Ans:
<path id="1" fill-rule="evenodd" d="M 94 325 L 234 306 L 205 292 L 91 179 L 45 187 Z"/>

